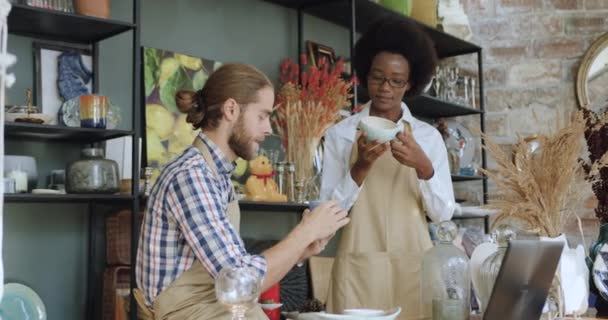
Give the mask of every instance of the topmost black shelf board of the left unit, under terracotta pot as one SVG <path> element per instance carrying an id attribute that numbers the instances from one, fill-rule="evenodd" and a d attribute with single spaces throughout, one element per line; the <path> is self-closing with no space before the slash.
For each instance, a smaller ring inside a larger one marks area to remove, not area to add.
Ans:
<path id="1" fill-rule="evenodd" d="M 23 4 L 12 4 L 12 6 L 8 16 L 8 32 L 37 39 L 93 43 L 136 27 L 128 22 L 82 16 Z"/>

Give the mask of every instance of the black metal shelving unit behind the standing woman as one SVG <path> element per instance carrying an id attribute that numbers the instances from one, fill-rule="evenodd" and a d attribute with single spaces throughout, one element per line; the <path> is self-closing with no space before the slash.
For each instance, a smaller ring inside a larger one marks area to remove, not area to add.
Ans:
<path id="1" fill-rule="evenodd" d="M 326 20 L 339 26 L 347 28 L 350 32 L 350 58 L 352 60 L 354 44 L 357 33 L 365 31 L 371 23 L 383 17 L 399 17 L 401 19 L 412 20 L 409 17 L 386 9 L 383 6 L 369 0 L 264 0 L 283 7 L 291 8 L 297 11 L 298 17 L 298 53 L 303 52 L 303 16 L 304 13 L 310 14 L 317 18 Z M 412 20 L 413 21 L 413 20 Z M 416 21 L 414 21 L 416 22 Z M 484 95 L 483 95 L 483 66 L 482 66 L 482 48 L 476 44 L 456 38 L 452 35 L 444 33 L 435 28 L 416 22 L 421 28 L 428 33 L 430 38 L 435 43 L 435 48 L 439 58 L 448 58 L 465 54 L 477 55 L 478 67 L 478 96 L 479 109 L 474 109 L 468 106 L 458 105 L 448 101 L 443 101 L 428 95 L 420 95 L 417 97 L 406 97 L 404 101 L 407 103 L 412 114 L 424 119 L 436 119 L 443 117 L 456 116 L 479 116 L 480 129 L 485 132 L 485 117 L 484 117 Z M 296 60 L 298 61 L 298 60 Z M 354 102 L 361 101 L 360 98 L 365 97 L 365 90 L 362 88 L 354 88 Z M 481 139 L 483 144 L 483 139 Z M 486 168 L 486 153 L 481 150 L 481 165 Z M 483 189 L 483 201 L 487 202 L 488 185 L 487 179 L 482 177 L 469 176 L 452 176 L 452 181 L 481 181 Z M 461 217 L 455 217 L 461 218 Z M 471 217 L 472 218 L 472 217 Z M 484 226 L 486 232 L 489 230 L 489 219 L 485 217 Z"/>

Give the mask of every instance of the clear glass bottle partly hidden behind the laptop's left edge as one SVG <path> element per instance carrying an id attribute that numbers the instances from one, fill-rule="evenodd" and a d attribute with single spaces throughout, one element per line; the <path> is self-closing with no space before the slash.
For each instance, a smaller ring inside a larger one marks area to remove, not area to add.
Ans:
<path id="1" fill-rule="evenodd" d="M 502 266 L 502 260 L 509 247 L 509 242 L 515 239 L 515 231 L 506 224 L 500 225 L 494 231 L 494 238 L 498 243 L 498 250 L 488 256 L 481 266 L 479 267 L 479 300 L 481 300 L 481 310 L 485 311 L 490 296 L 492 295 L 492 289 L 494 289 L 494 282 L 498 277 L 498 272 Z"/>

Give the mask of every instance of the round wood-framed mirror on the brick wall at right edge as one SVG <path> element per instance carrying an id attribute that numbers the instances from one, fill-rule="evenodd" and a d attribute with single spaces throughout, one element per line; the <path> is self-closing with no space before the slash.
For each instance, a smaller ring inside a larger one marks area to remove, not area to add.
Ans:
<path id="1" fill-rule="evenodd" d="M 585 53 L 576 77 L 579 107 L 596 112 L 608 107 L 608 33 L 601 36 Z"/>

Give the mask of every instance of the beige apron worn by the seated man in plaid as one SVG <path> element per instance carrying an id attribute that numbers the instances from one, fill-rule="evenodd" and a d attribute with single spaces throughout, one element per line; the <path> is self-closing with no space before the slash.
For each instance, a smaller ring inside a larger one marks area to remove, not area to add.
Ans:
<path id="1" fill-rule="evenodd" d="M 193 145 L 217 176 L 217 167 L 207 146 L 196 138 Z M 228 220 L 239 231 L 240 210 L 238 200 L 228 204 Z M 217 302 L 215 280 L 200 261 L 194 261 L 190 269 L 182 273 L 171 285 L 163 290 L 154 301 L 156 320 L 231 320 L 232 315 Z M 248 320 L 268 320 L 259 306 L 247 313 Z"/>

